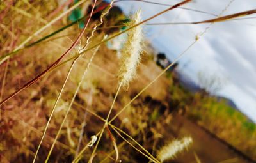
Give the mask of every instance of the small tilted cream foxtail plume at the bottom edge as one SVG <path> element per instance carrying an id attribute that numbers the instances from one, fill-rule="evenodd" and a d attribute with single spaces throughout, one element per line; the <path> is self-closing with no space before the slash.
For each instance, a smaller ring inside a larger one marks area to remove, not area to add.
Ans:
<path id="1" fill-rule="evenodd" d="M 165 160 L 170 160 L 175 157 L 175 155 L 181 151 L 183 151 L 185 148 L 188 148 L 188 146 L 193 142 L 191 137 L 184 137 L 181 140 L 174 140 L 166 146 L 163 146 L 157 153 L 157 157 L 161 162 L 164 162 Z"/>

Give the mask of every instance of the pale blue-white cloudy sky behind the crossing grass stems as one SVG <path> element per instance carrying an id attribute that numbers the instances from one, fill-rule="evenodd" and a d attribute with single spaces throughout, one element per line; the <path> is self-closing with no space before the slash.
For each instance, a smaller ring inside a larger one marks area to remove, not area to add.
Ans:
<path id="1" fill-rule="evenodd" d="M 153 0 L 150 0 L 153 1 Z M 176 4 L 177 0 L 154 1 Z M 229 4 L 229 5 L 228 5 Z M 116 3 L 126 14 L 141 9 L 143 19 L 168 8 L 138 1 Z M 255 0 L 194 0 L 184 7 L 215 15 L 228 15 L 256 8 Z M 255 17 L 248 15 L 246 17 Z M 211 14 L 175 9 L 149 23 L 196 22 L 214 18 Z M 170 60 L 182 53 L 206 27 L 191 49 L 179 60 L 179 71 L 198 83 L 198 73 L 218 77 L 224 84 L 216 95 L 230 98 L 241 112 L 256 122 L 256 19 L 234 20 L 215 24 L 144 26 L 147 39 Z"/>

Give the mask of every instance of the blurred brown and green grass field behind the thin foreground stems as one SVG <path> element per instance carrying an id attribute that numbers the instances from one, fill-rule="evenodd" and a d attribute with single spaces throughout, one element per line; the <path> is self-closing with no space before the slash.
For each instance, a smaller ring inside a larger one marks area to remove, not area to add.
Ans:
<path id="1" fill-rule="evenodd" d="M 61 12 L 67 11 L 67 8 L 73 6 L 74 2 L 67 1 L 67 3 L 63 3 L 64 6 L 60 4 L 60 1 L 53 0 L 10 0 L 1 1 L 0 4 L 0 56 L 15 51 L 29 36 L 32 36 L 32 38 L 25 45 L 29 45 L 29 43 L 50 35 L 63 26 L 67 26 L 71 23 L 70 15 L 74 14 L 74 12 L 70 12 L 63 15 L 60 20 L 34 36 L 35 31 L 49 24 Z M 88 10 L 90 10 L 88 6 L 91 4 L 90 1 L 84 1 L 79 6 L 79 10 L 88 13 Z M 78 14 L 77 19 L 79 18 L 81 18 L 81 15 Z M 126 18 L 124 15 L 118 15 L 118 19 L 116 16 L 115 19 L 111 19 L 110 16 L 108 19 L 104 19 L 104 24 L 100 26 L 102 29 L 96 32 L 91 44 L 99 43 L 106 34 L 109 36 L 115 35 L 119 28 L 111 30 L 108 29 L 108 26 L 115 26 L 116 22 L 126 21 Z M 91 20 L 88 30 L 81 38 L 81 43 L 86 42 L 86 38 L 90 36 L 90 31 L 98 21 L 99 19 Z M 24 86 L 26 82 L 33 79 L 35 75 L 43 72 L 53 61 L 60 58 L 61 54 L 72 45 L 81 33 L 79 26 L 81 27 L 83 24 L 77 22 L 74 26 L 45 38 L 40 43 L 15 52 L 10 58 L 1 58 L 0 99 L 3 100 L 8 97 Z M 44 162 L 47 157 L 52 141 L 74 95 L 77 83 L 80 81 L 84 68 L 90 61 L 94 50 L 89 50 L 83 58 L 76 62 L 39 150 L 37 162 Z M 79 150 L 86 146 L 91 140 L 91 136 L 96 135 L 104 125 L 104 121 L 99 116 L 106 118 L 108 115 L 118 85 L 116 74 L 119 70 L 119 59 L 116 53 L 116 50 L 109 49 L 106 43 L 100 45 L 99 51 L 81 84 L 81 89 L 76 95 L 67 121 L 61 130 L 61 135 L 52 152 L 50 162 L 72 162 L 76 156 L 81 130 L 84 130 L 84 132 L 82 133 L 83 139 Z M 70 54 L 63 58 L 62 63 L 75 55 L 76 50 L 73 49 Z M 156 50 L 152 49 L 150 42 L 146 41 L 136 79 L 131 82 L 127 91 L 121 90 L 116 99 L 113 114 L 118 113 L 141 89 L 161 74 L 163 70 L 156 65 L 155 56 Z M 49 120 L 51 109 L 70 65 L 71 63 L 68 62 L 54 68 L 40 81 L 35 82 L 35 84 L 1 105 L 0 162 L 31 162 L 33 160 L 45 124 Z M 157 150 L 164 143 L 173 138 L 180 138 L 178 137 L 179 130 L 172 133 L 166 129 L 178 121 L 175 120 L 177 116 L 182 116 L 186 120 L 207 128 L 215 136 L 256 160 L 255 124 L 242 113 L 230 107 L 225 100 L 220 101 L 204 91 L 189 92 L 180 84 L 175 72 L 167 72 L 159 77 L 111 124 L 133 137 L 149 153 L 156 155 Z M 177 124 L 175 127 L 178 127 Z M 113 130 L 111 132 L 113 132 L 112 134 L 116 140 L 120 155 L 119 160 L 122 160 L 122 162 L 148 162 L 147 157 L 134 150 Z M 129 139 L 128 136 L 125 138 Z M 133 144 L 135 143 L 133 142 Z M 193 147 L 193 149 L 195 148 L 204 150 L 205 146 Z M 98 150 L 99 152 L 93 162 L 115 161 L 115 149 L 108 133 L 103 134 Z M 227 153 L 230 152 L 230 149 L 225 150 L 227 150 Z M 225 153 L 225 150 L 223 150 L 223 153 Z M 93 148 L 88 148 L 83 153 L 83 157 L 80 158 L 80 162 L 88 161 L 92 152 Z M 179 161 L 179 157 L 180 161 L 186 158 L 186 151 L 181 156 L 177 155 L 176 160 Z M 198 157 L 200 159 L 200 155 Z M 236 157 L 239 157 L 239 155 L 237 154 Z M 188 160 L 185 160 L 189 162 L 196 160 L 195 157 L 188 158 Z"/>

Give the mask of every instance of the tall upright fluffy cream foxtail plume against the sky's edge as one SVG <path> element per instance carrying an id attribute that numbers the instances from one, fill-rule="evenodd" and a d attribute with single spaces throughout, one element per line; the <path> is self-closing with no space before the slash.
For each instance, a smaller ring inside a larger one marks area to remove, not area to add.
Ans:
<path id="1" fill-rule="evenodd" d="M 127 27 L 132 27 L 141 22 L 141 11 L 132 15 Z M 136 75 L 137 66 L 140 63 L 140 54 L 143 41 L 142 27 L 137 26 L 127 31 L 127 40 L 121 49 L 120 70 L 118 72 L 118 86 L 127 88 Z"/>

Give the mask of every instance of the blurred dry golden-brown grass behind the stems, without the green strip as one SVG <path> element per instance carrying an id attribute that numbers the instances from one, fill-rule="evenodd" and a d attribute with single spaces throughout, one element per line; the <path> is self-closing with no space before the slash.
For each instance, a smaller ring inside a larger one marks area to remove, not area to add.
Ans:
<path id="1" fill-rule="evenodd" d="M 33 1 L 31 3 L 13 1 L 13 4 L 12 1 L 10 2 L 4 2 L 0 10 L 1 14 L 3 13 L 4 15 L 4 17 L 0 17 L 3 20 L 0 21 L 0 27 L 4 31 L 0 38 L 1 56 L 2 54 L 12 52 L 23 40 L 31 36 L 32 31 L 36 31 L 51 21 L 52 17 L 54 17 L 52 13 L 58 15 L 58 12 L 54 12 L 58 10 L 56 1 Z M 8 11 L 8 14 L 5 10 Z M 212 21 L 214 22 L 215 20 Z M 89 28 L 92 29 L 96 22 L 97 20 L 92 22 Z M 52 31 L 59 29 L 65 24 L 67 24 L 67 16 L 56 22 L 54 26 L 45 29 L 40 35 L 35 36 L 32 41 L 52 33 Z M 93 38 L 92 45 L 101 42 L 104 34 L 106 34 L 106 31 L 99 31 L 95 38 Z M 53 61 L 60 58 L 61 54 L 76 40 L 77 35 L 79 35 L 77 27 L 69 27 L 55 35 L 54 38 L 49 38 L 38 45 L 24 49 L 18 52 L 17 55 L 12 56 L 9 61 L 1 63 L 0 86 L 5 81 L 4 91 L 1 91 L 3 96 L 1 100 L 21 88 L 26 82 L 33 79 L 36 74 L 44 71 Z M 89 32 L 86 32 L 81 38 L 82 43 L 85 42 L 87 36 L 90 36 Z M 47 157 L 52 141 L 63 121 L 67 107 L 74 95 L 74 90 L 81 79 L 86 63 L 88 63 L 93 54 L 93 50 L 87 51 L 83 58 L 77 61 L 72 74 L 68 78 L 62 98 L 56 107 L 56 112 L 42 143 L 42 149 L 38 153 L 38 160 L 40 162 Z M 116 143 L 116 146 L 118 146 L 118 153 L 120 155 L 118 159 L 124 162 L 148 161 L 145 156 L 138 152 L 143 151 L 146 153 L 146 156 L 150 157 L 147 151 L 155 155 L 158 148 L 157 143 L 163 143 L 164 134 L 160 133 L 166 133 L 166 128 L 163 128 L 163 126 L 170 125 L 172 114 L 170 114 L 169 109 L 163 110 L 162 107 L 169 107 L 168 100 L 172 97 L 170 97 L 168 88 L 174 82 L 164 75 L 159 77 L 159 74 L 163 74 L 163 70 L 150 59 L 153 53 L 148 51 L 150 50 L 147 50 L 146 46 L 145 52 L 141 56 L 138 73 L 134 81 L 131 82 L 129 89 L 121 91 L 120 95 L 116 98 L 113 114 L 118 113 L 126 104 L 129 104 L 132 98 L 140 93 L 150 82 L 155 79 L 157 80 L 152 82 L 140 97 L 136 98 L 115 121 L 109 124 L 109 128 L 112 127 L 110 129 L 112 134 L 103 134 L 103 143 L 99 144 L 99 152 L 93 158 L 95 162 L 100 162 L 103 159 L 105 159 L 104 162 L 111 162 L 111 159 L 115 158 L 115 152 L 112 152 L 116 151 L 112 144 L 114 142 L 113 137 L 116 139 L 114 144 Z M 73 50 L 64 60 L 76 57 L 74 53 Z M 86 122 L 86 125 L 80 149 L 90 142 L 91 136 L 97 134 L 102 129 L 104 125 L 104 119 L 102 120 L 102 118 L 106 118 L 108 115 L 109 108 L 115 97 L 116 86 L 118 86 L 116 75 L 119 70 L 118 62 L 116 52 L 109 50 L 103 43 L 100 46 L 99 52 L 97 52 L 97 56 L 92 61 L 92 66 L 88 69 L 88 74 L 86 74 L 81 89 L 75 98 L 67 122 L 60 132 L 60 139 L 56 143 L 56 148 L 53 150 L 50 161 L 71 162 L 74 159 L 77 144 L 79 144 L 81 127 L 85 124 L 84 122 Z M 49 120 L 49 114 L 70 64 L 63 64 L 63 66 L 51 70 L 40 81 L 35 82 L 33 86 L 24 89 L 17 96 L 10 98 L 8 102 L 1 105 L 1 109 L 3 109 L 1 110 L 0 121 L 1 161 L 30 162 L 35 157 L 35 151 L 44 132 L 45 123 Z M 7 72 L 6 75 L 4 75 L 5 70 Z M 90 102 L 90 98 L 92 98 L 92 102 Z M 150 98 L 149 102 L 148 98 Z M 160 118 L 157 116 L 159 113 L 161 114 Z M 113 114 L 111 114 L 110 118 L 113 117 Z M 118 130 L 115 127 L 122 130 Z M 134 140 L 127 135 L 125 136 L 122 131 L 134 137 Z M 125 137 L 124 140 L 120 138 L 120 133 Z M 227 133 L 222 134 L 227 135 Z M 131 146 L 124 142 L 132 142 L 130 145 L 135 144 L 135 149 L 133 150 Z M 136 144 L 137 142 L 142 144 L 144 149 Z M 80 159 L 84 161 L 92 158 L 92 151 L 93 148 L 88 148 L 84 152 L 83 158 Z M 108 153 L 111 153 L 111 157 L 106 156 Z M 154 160 L 154 157 L 150 158 Z M 157 160 L 154 161 L 157 162 Z"/>

